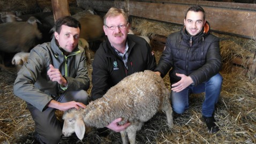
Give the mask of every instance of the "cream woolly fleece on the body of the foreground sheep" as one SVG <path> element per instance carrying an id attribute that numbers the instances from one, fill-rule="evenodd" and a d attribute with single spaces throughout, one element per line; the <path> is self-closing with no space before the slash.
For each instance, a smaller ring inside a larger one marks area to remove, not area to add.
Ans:
<path id="1" fill-rule="evenodd" d="M 147 122 L 168 95 L 169 90 L 159 75 L 149 70 L 137 72 L 111 87 L 102 98 L 89 103 L 82 115 L 87 126 L 98 128 L 119 117 L 123 118 L 120 124 Z"/>

